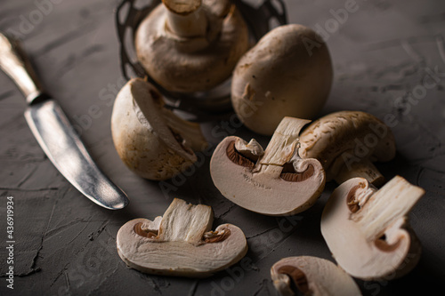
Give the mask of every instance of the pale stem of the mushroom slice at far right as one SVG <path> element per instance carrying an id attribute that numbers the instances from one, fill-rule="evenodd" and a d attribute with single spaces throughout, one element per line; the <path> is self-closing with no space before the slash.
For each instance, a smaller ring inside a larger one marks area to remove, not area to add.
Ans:
<path id="1" fill-rule="evenodd" d="M 367 188 L 359 188 L 356 196 L 360 194 L 359 190 Z M 376 240 L 384 235 L 385 229 L 400 222 L 424 194 L 424 189 L 396 176 L 369 197 L 364 205 L 360 203 L 362 208 L 352 214 L 352 220 L 358 223 L 369 240 Z"/>

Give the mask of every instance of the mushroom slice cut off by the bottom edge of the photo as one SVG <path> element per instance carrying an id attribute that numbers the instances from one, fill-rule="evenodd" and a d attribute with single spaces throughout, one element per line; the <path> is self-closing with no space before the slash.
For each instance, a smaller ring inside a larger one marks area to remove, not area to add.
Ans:
<path id="1" fill-rule="evenodd" d="M 279 260 L 271 268 L 271 278 L 283 296 L 300 293 L 312 296 L 361 295 L 357 284 L 343 269 L 329 260 L 317 257 L 287 257 Z"/>

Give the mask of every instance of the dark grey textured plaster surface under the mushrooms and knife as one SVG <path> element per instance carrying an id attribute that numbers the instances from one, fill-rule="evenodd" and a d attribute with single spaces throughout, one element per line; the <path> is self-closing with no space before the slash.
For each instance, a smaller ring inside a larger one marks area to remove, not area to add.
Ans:
<path id="1" fill-rule="evenodd" d="M 42 2 L 52 5 L 39 19 L 37 4 Z M 334 18 L 330 10 L 344 8 L 345 3 L 287 0 L 289 19 L 324 27 Z M 320 214 L 335 184 L 327 185 L 309 211 L 290 219 L 271 218 L 224 199 L 210 179 L 209 156 L 186 179 L 164 183 L 164 190 L 158 182 L 142 180 L 125 168 L 109 130 L 110 102 L 122 85 L 113 12 L 117 4 L 117 0 L 0 2 L 0 30 L 20 33 L 48 92 L 73 123 L 82 119 L 79 132 L 94 160 L 131 199 L 125 210 L 111 212 L 71 187 L 29 131 L 22 95 L 0 73 L 0 294 L 274 295 L 269 269 L 275 261 L 293 255 L 333 260 L 320 235 Z M 428 69 L 445 73 L 445 2 L 358 0 L 357 5 L 357 12 L 328 36 L 335 81 L 322 113 L 357 109 L 381 119 L 396 116 L 392 132 L 398 155 L 377 166 L 387 179 L 400 174 L 426 190 L 409 215 L 423 244 L 417 268 L 391 282 L 357 283 L 366 295 L 426 294 L 445 280 L 445 75 L 438 76 L 439 82 L 421 100 L 413 103 L 408 96 L 423 85 Z M 27 27 L 29 20 L 36 24 Z M 204 124 L 213 145 L 229 133 L 267 143 L 267 138 L 229 119 Z M 4 278 L 6 196 L 15 201 L 13 292 Z M 214 226 L 230 222 L 242 228 L 249 244 L 246 264 L 203 280 L 146 276 L 126 268 L 116 252 L 118 228 L 127 220 L 162 215 L 173 197 L 211 205 Z"/>

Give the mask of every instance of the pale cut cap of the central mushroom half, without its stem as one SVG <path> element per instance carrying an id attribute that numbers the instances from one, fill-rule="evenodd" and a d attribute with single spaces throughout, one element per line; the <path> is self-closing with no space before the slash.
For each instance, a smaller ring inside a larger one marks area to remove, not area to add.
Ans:
<path id="1" fill-rule="evenodd" d="M 315 204 L 325 184 L 318 161 L 306 159 L 296 167 L 295 163 L 295 172 L 300 172 L 303 180 L 288 181 L 283 179 L 283 166 L 269 165 L 267 173 L 258 173 L 253 167 L 234 163 L 228 151 L 238 141 L 244 142 L 234 136 L 225 138 L 210 161 L 214 186 L 223 196 L 249 211 L 270 216 L 293 215 Z"/>

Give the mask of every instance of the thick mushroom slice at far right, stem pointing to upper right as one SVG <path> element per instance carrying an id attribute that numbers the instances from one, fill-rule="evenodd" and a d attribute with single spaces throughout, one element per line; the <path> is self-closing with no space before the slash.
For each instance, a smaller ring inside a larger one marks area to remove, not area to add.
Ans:
<path id="1" fill-rule="evenodd" d="M 407 214 L 424 194 L 400 176 L 378 191 L 363 178 L 336 188 L 321 216 L 321 234 L 338 265 L 364 280 L 408 273 L 421 249 Z"/>

